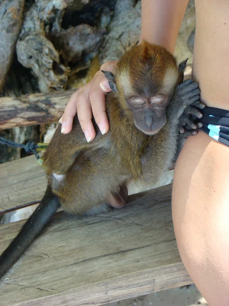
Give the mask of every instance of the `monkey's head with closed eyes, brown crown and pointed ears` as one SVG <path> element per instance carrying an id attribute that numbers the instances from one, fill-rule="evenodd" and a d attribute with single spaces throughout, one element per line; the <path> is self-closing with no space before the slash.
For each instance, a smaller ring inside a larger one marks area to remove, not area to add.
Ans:
<path id="1" fill-rule="evenodd" d="M 131 113 L 140 131 L 154 135 L 166 122 L 166 108 L 183 82 L 186 62 L 178 66 L 164 47 L 143 41 L 120 58 L 115 74 L 103 72 L 118 93 L 121 109 Z"/>

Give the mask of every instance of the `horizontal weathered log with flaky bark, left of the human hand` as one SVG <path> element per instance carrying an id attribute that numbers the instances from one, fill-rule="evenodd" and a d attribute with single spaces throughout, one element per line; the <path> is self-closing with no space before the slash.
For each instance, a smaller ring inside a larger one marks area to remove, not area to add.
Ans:
<path id="1" fill-rule="evenodd" d="M 74 91 L 0 98 L 0 130 L 59 120 Z"/>

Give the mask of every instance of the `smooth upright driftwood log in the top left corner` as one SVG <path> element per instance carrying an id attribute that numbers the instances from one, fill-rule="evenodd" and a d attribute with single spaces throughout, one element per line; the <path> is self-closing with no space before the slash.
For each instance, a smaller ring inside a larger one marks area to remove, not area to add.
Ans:
<path id="1" fill-rule="evenodd" d="M 23 8 L 24 0 L 0 1 L 0 91 L 13 60 Z"/>

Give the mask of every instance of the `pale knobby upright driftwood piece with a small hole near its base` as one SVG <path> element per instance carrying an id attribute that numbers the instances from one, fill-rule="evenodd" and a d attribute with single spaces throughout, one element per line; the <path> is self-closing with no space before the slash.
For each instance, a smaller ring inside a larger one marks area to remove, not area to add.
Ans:
<path id="1" fill-rule="evenodd" d="M 24 67 L 32 69 L 42 92 L 63 90 L 70 69 L 60 63 L 58 52 L 46 38 L 44 21 L 38 13 L 34 4 L 25 14 L 16 45 L 17 58 Z"/>

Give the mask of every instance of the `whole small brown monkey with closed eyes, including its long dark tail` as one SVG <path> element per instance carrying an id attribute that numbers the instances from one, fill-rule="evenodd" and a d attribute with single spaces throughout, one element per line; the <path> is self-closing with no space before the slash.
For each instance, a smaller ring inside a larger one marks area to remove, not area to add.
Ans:
<path id="1" fill-rule="evenodd" d="M 47 190 L 2 253 L 0 278 L 60 207 L 70 214 L 87 214 L 106 206 L 122 185 L 158 181 L 176 155 L 185 108 L 196 117 L 201 116 L 197 108 L 203 108 L 198 85 L 183 82 L 186 62 L 178 65 L 164 47 L 143 41 L 120 58 L 115 73 L 103 71 L 111 88 L 106 95 L 110 129 L 102 135 L 93 121 L 96 137 L 87 142 L 77 116 L 70 133 L 61 134 L 58 126 L 43 155 Z"/>

